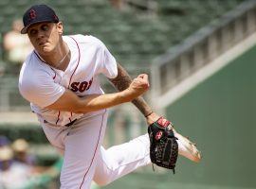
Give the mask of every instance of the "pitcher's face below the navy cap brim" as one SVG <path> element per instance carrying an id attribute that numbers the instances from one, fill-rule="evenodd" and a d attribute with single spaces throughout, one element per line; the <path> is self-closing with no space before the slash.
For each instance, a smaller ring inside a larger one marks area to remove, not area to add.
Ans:
<path id="1" fill-rule="evenodd" d="M 41 55 L 54 52 L 63 34 L 62 23 L 39 23 L 27 28 L 27 35 L 34 48 Z"/>

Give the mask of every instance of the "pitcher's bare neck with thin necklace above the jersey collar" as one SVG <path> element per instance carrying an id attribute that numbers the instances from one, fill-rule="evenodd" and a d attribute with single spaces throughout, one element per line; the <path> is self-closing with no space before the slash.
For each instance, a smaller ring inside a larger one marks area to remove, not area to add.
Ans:
<path id="1" fill-rule="evenodd" d="M 71 53 L 68 45 L 63 42 L 49 54 L 40 56 L 48 65 L 64 71 L 69 63 Z"/>

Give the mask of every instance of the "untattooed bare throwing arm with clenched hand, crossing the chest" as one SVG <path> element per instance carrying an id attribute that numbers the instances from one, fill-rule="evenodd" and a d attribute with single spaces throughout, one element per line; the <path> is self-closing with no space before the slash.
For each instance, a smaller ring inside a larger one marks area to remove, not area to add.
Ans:
<path id="1" fill-rule="evenodd" d="M 64 94 L 46 109 L 77 113 L 100 111 L 129 102 L 144 94 L 148 88 L 148 76 L 142 74 L 135 78 L 126 90 L 115 94 L 89 94 L 79 97 L 70 90 L 65 90 Z"/>

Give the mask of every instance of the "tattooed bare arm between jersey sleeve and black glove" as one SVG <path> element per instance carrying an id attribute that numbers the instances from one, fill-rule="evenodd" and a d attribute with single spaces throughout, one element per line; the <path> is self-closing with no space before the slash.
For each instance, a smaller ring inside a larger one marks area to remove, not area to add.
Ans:
<path id="1" fill-rule="evenodd" d="M 115 78 L 108 78 L 111 83 L 119 91 L 123 91 L 129 87 L 132 82 L 132 78 L 125 71 L 125 69 L 118 63 L 118 76 Z M 154 123 L 160 116 L 157 115 L 148 103 L 143 99 L 143 97 L 137 97 L 132 103 L 137 107 L 137 109 L 146 117 L 148 124 Z"/>

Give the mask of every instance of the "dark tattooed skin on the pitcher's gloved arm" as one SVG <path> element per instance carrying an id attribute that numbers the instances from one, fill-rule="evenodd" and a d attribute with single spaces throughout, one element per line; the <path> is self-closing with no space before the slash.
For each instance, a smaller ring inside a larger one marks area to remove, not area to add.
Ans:
<path id="1" fill-rule="evenodd" d="M 121 67 L 121 65 L 119 64 L 118 64 L 118 77 L 109 78 L 109 80 L 113 83 L 113 85 L 119 91 L 123 91 L 127 89 L 132 82 L 132 78 L 124 70 L 124 68 Z M 152 112 L 150 106 L 142 97 L 138 97 L 137 99 L 133 100 L 132 103 L 137 107 L 137 109 L 140 112 L 142 112 L 143 115 L 147 115 L 148 113 Z"/>

